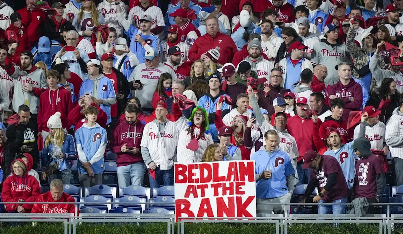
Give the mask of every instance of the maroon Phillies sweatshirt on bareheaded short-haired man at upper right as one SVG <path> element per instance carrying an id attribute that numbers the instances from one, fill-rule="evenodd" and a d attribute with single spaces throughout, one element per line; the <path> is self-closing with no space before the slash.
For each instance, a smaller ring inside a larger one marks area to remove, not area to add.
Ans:
<path id="1" fill-rule="evenodd" d="M 341 81 L 327 88 L 329 96 L 336 95 L 337 98 L 341 98 L 346 106 L 343 111 L 343 119 L 348 120 L 349 114 L 352 110 L 361 110 L 362 106 L 362 87 L 354 79 L 350 78 L 350 82 L 347 85 L 343 85 Z M 350 98 L 353 98 L 353 102 L 350 102 Z"/>

